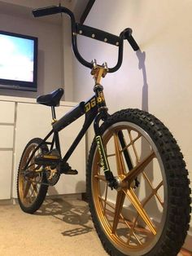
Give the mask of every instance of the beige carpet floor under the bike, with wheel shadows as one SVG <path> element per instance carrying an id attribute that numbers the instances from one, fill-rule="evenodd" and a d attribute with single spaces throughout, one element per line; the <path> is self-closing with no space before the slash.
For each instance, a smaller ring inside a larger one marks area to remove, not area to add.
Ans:
<path id="1" fill-rule="evenodd" d="M 19 205 L 0 205 L 0 256 L 33 255 L 107 255 L 85 201 L 49 199 L 36 214 L 24 214 Z"/>

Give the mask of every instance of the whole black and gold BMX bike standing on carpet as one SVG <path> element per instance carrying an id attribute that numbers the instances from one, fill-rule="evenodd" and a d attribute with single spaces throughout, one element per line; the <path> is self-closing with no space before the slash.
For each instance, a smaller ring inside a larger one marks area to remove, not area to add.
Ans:
<path id="1" fill-rule="evenodd" d="M 34 138 L 24 148 L 17 177 L 21 209 L 33 214 L 44 201 L 48 187 L 55 185 L 61 174 L 78 174 L 68 165 L 68 159 L 94 122 L 86 190 L 104 249 L 110 255 L 177 255 L 190 222 L 190 182 L 181 150 L 168 128 L 150 113 L 129 108 L 109 114 L 101 84 L 107 73 L 120 68 L 124 40 L 134 51 L 139 49 L 132 30 L 124 29 L 118 37 L 77 24 L 72 11 L 61 6 L 33 11 L 35 16 L 56 13 L 66 13 L 72 20 L 72 48 L 77 60 L 91 69 L 94 95 L 59 120 L 55 107 L 59 106 L 63 89 L 37 98 L 37 103 L 51 108 L 52 129 L 44 139 Z M 77 48 L 78 34 L 118 47 L 116 66 L 108 68 L 106 63 L 84 60 Z M 82 115 L 84 124 L 62 157 L 59 131 Z"/>

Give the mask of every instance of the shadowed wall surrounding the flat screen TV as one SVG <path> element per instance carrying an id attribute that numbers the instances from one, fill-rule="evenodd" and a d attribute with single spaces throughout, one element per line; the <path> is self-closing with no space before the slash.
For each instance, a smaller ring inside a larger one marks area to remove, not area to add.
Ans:
<path id="1" fill-rule="evenodd" d="M 4 90 L 0 95 L 34 97 L 63 86 L 62 28 L 41 19 L 5 15 L 0 11 L 0 29 L 38 38 L 37 92 Z"/>

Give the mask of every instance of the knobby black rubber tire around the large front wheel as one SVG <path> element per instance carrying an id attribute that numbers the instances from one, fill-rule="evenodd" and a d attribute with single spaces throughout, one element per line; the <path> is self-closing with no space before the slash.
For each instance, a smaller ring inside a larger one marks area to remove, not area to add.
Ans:
<path id="1" fill-rule="evenodd" d="M 185 236 L 190 223 L 190 188 L 188 171 L 185 169 L 185 161 L 177 141 L 172 134 L 156 117 L 138 109 L 124 109 L 112 114 L 101 126 L 102 135 L 113 125 L 120 122 L 129 122 L 141 127 L 155 143 L 159 156 L 164 166 L 165 179 L 167 183 L 168 202 L 167 213 L 163 230 L 153 248 L 141 255 L 146 256 L 176 256 L 185 241 Z M 89 152 L 87 164 L 87 194 L 89 196 L 89 210 L 94 222 L 94 227 L 103 244 L 104 249 L 110 255 L 140 255 L 139 251 L 134 254 L 127 249 L 124 253 L 111 243 L 107 232 L 103 230 L 104 224 L 98 219 L 98 210 L 94 205 L 93 182 L 93 161 L 98 151 L 95 140 Z"/>

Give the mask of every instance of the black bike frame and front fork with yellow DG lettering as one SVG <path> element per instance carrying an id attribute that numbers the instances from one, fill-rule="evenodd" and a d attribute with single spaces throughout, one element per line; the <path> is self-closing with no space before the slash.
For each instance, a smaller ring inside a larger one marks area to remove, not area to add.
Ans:
<path id="1" fill-rule="evenodd" d="M 52 109 L 52 117 L 54 119 L 54 122 L 52 124 L 53 129 L 50 130 L 49 134 L 46 135 L 44 139 L 42 139 L 41 143 L 37 146 L 37 148 L 34 149 L 32 155 L 28 158 L 28 161 L 26 165 L 24 166 L 24 171 L 27 170 L 28 165 L 30 161 L 32 160 L 35 152 L 43 144 L 50 144 L 50 150 L 55 148 L 59 151 L 60 157 L 61 157 L 61 150 L 60 150 L 60 143 L 59 143 L 59 131 L 63 130 L 66 126 L 69 126 L 73 121 L 76 121 L 76 119 L 80 118 L 81 116 L 85 115 L 85 121 L 84 124 L 79 132 L 79 134 L 76 136 L 76 139 L 74 139 L 71 147 L 68 149 L 68 152 L 64 155 L 62 161 L 67 162 L 69 157 L 71 157 L 72 152 L 74 152 L 76 146 L 78 143 L 80 143 L 82 137 L 85 135 L 86 130 L 88 130 L 91 123 L 94 121 L 94 133 L 95 133 L 95 139 L 96 143 L 98 145 L 98 152 L 101 159 L 101 166 L 103 166 L 103 171 L 106 176 L 107 181 L 109 182 L 109 186 L 111 188 L 114 188 L 114 183 L 116 180 L 114 179 L 113 174 L 111 173 L 111 170 L 109 168 L 109 164 L 107 161 L 107 155 L 105 152 L 105 149 L 103 147 L 103 139 L 100 133 L 100 127 L 99 127 L 99 121 L 100 120 L 106 120 L 109 114 L 107 113 L 107 106 L 103 95 L 103 86 L 101 85 L 95 85 L 94 86 L 94 92 L 95 95 L 92 96 L 90 99 L 88 99 L 86 102 L 81 102 L 80 104 L 76 105 L 76 107 L 72 108 L 72 110 L 68 113 L 66 113 L 63 117 L 59 119 L 59 121 L 55 121 L 55 107 L 51 107 Z M 52 142 L 47 142 L 46 140 L 50 138 L 51 135 L 53 135 Z"/>

